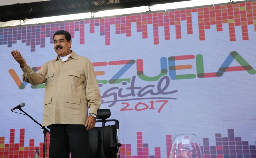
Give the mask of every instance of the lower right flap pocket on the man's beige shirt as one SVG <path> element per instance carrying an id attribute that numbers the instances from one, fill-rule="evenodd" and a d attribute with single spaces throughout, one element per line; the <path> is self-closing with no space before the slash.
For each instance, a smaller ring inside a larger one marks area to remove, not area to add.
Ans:
<path id="1" fill-rule="evenodd" d="M 65 98 L 65 112 L 67 114 L 78 115 L 80 113 L 79 110 L 80 98 L 66 96 Z"/>

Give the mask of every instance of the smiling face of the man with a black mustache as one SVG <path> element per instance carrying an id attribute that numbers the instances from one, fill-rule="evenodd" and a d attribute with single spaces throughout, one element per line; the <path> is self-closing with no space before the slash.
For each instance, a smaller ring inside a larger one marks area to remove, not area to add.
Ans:
<path id="1" fill-rule="evenodd" d="M 54 36 L 54 50 L 57 55 L 64 57 L 71 54 L 71 41 L 67 41 L 65 35 Z"/>

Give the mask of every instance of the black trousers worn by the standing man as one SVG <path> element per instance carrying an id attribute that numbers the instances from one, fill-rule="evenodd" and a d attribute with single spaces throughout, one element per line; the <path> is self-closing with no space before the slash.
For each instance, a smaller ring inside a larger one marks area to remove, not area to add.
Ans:
<path id="1" fill-rule="evenodd" d="M 89 157 L 89 136 L 82 124 L 52 124 L 50 129 L 49 158 Z"/>

